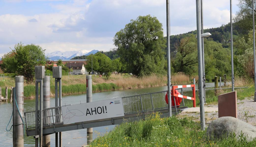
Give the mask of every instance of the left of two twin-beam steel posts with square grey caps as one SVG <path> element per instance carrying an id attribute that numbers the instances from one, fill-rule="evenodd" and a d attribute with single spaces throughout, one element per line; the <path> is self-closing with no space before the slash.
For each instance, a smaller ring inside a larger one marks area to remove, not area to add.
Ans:
<path id="1" fill-rule="evenodd" d="M 42 147 L 42 141 L 43 141 L 42 110 L 43 110 L 43 78 L 44 77 L 45 77 L 45 66 L 35 66 L 35 78 L 36 78 L 36 136 L 35 136 L 36 144 L 35 146 L 38 146 L 38 138 L 39 138 L 40 147 Z M 38 88 L 40 93 L 38 93 Z M 39 99 L 38 99 L 38 95 L 40 96 Z M 39 110 L 38 110 L 38 106 L 39 106 Z"/>

